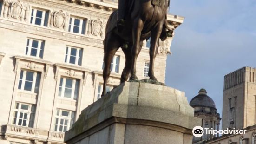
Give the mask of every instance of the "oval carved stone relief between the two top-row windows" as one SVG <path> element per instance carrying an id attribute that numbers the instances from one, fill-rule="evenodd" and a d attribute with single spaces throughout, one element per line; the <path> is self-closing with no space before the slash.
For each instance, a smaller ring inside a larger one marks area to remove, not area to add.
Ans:
<path id="1" fill-rule="evenodd" d="M 57 28 L 66 29 L 68 26 L 68 13 L 63 10 L 55 11 L 51 14 L 50 26 L 55 26 Z"/>

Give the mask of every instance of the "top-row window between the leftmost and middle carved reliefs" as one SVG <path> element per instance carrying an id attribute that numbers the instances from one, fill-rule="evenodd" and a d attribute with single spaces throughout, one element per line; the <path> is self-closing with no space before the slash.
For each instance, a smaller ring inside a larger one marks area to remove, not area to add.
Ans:
<path id="1" fill-rule="evenodd" d="M 49 18 L 49 12 L 45 10 L 38 10 L 33 8 L 31 11 L 30 23 L 39 25 L 39 26 L 47 26 Z"/>

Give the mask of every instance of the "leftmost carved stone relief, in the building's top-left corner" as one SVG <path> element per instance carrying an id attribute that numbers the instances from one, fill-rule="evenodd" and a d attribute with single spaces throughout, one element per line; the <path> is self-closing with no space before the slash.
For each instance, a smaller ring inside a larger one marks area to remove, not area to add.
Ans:
<path id="1" fill-rule="evenodd" d="M 28 22 L 29 11 L 31 6 L 20 0 L 4 0 L 4 18 L 20 19 L 20 21 Z"/>

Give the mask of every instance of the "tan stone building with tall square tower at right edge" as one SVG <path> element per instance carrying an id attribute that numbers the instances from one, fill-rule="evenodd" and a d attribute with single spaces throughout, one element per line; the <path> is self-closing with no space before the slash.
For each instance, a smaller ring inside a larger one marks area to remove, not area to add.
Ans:
<path id="1" fill-rule="evenodd" d="M 206 144 L 256 144 L 256 68 L 243 67 L 224 77 L 222 129 L 245 134 L 223 135 Z"/>

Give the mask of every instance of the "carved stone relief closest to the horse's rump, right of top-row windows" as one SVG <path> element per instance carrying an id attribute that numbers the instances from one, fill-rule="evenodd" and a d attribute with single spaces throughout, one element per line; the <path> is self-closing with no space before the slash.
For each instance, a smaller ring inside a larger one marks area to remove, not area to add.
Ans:
<path id="1" fill-rule="evenodd" d="M 88 35 L 100 36 L 104 38 L 105 36 L 105 22 L 100 19 L 94 19 L 89 21 Z"/>

